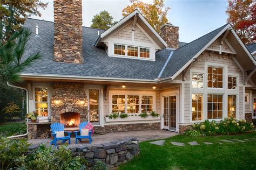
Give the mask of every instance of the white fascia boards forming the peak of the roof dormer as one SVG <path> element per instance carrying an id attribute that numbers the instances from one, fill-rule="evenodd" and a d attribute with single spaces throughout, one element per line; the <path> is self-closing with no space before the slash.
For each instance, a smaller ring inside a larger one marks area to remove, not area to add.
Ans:
<path id="1" fill-rule="evenodd" d="M 105 32 L 103 32 L 102 34 L 100 34 L 99 38 L 97 39 L 97 41 L 95 43 L 95 46 L 98 45 L 98 42 L 100 41 L 100 39 L 102 39 L 102 38 L 106 37 L 107 35 L 109 35 L 113 30 L 117 29 L 117 27 L 119 27 L 120 25 L 125 23 L 127 20 L 132 18 L 134 15 L 136 15 L 136 13 L 139 14 L 140 19 L 143 20 L 143 22 L 147 25 L 147 27 L 149 27 L 149 29 L 155 34 L 155 36 L 163 43 L 163 45 L 165 47 L 167 47 L 168 45 L 164 41 L 164 39 L 161 38 L 161 36 L 157 33 L 157 31 L 153 29 L 153 27 L 149 24 L 149 22 L 147 22 L 147 20 L 142 16 L 142 14 L 140 14 L 140 12 L 138 10 L 133 11 L 128 16 L 126 16 L 124 19 L 120 20 L 117 24 L 114 24 L 112 27 L 110 27 L 110 29 L 108 29 Z"/>

